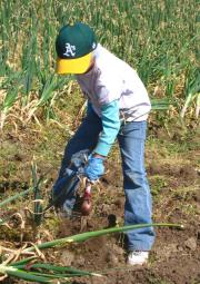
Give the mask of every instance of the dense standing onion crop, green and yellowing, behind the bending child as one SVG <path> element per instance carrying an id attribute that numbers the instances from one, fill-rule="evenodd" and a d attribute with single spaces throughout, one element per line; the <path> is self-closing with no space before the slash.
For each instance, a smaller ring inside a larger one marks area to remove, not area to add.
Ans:
<path id="1" fill-rule="evenodd" d="M 64 0 L 48 4 L 1 1 L 0 88 L 6 90 L 1 128 L 16 108 L 18 118 L 16 111 L 11 114 L 17 123 L 19 118 L 40 120 L 41 112 L 59 120 L 57 101 L 61 92 L 69 95 L 73 78 L 54 75 L 54 40 L 61 26 L 76 21 L 90 25 L 103 46 L 138 70 L 151 99 L 172 99 L 179 110 L 184 106 L 182 117 L 189 115 L 188 107 L 194 109 L 199 100 L 197 6 L 194 0 L 151 1 L 148 6 L 144 0 L 131 4 L 111 0 L 106 6 L 100 0 L 68 4 Z"/>

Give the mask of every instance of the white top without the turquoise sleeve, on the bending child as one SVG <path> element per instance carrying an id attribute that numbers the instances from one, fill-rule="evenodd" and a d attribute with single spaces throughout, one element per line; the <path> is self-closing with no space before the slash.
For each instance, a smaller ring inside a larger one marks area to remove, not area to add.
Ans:
<path id="1" fill-rule="evenodd" d="M 121 117 L 128 121 L 146 120 L 151 109 L 147 89 L 137 71 L 101 45 L 94 52 L 94 67 L 77 75 L 78 84 L 101 116 L 101 107 L 119 100 Z"/>

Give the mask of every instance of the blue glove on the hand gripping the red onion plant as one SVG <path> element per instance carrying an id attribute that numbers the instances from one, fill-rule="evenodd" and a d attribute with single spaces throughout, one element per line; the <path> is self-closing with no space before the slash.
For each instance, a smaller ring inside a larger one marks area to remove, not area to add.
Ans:
<path id="1" fill-rule="evenodd" d="M 84 167 L 84 175 L 90 182 L 97 180 L 104 174 L 103 158 L 89 157 L 88 165 Z"/>

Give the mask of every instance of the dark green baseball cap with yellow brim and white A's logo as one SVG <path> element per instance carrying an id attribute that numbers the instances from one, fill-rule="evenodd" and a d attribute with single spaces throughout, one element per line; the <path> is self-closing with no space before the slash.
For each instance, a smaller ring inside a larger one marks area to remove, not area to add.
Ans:
<path id="1" fill-rule="evenodd" d="M 84 74 L 96 48 L 96 35 L 88 25 L 77 22 L 63 26 L 56 40 L 57 72 Z"/>

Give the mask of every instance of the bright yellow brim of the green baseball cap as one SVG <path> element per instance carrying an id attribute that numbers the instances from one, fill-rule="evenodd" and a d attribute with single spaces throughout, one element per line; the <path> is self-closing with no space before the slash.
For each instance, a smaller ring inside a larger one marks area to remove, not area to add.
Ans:
<path id="1" fill-rule="evenodd" d="M 57 59 L 57 74 L 84 74 L 91 63 L 91 52 L 76 59 Z"/>

